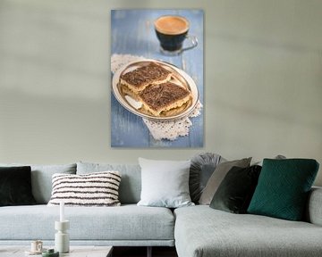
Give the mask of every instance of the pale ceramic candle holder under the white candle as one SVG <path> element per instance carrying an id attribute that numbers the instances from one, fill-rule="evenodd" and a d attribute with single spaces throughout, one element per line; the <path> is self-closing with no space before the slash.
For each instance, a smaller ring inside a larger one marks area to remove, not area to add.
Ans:
<path id="1" fill-rule="evenodd" d="M 69 253 L 69 235 L 67 229 L 70 228 L 69 220 L 55 221 L 55 250 L 59 253 Z"/>

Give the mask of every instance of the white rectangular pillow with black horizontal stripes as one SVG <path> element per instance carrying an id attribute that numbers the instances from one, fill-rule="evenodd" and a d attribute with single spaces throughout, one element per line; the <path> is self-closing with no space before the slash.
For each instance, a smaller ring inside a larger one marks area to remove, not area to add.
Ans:
<path id="1" fill-rule="evenodd" d="M 118 206 L 118 171 L 94 172 L 86 175 L 54 174 L 53 193 L 48 205 Z"/>

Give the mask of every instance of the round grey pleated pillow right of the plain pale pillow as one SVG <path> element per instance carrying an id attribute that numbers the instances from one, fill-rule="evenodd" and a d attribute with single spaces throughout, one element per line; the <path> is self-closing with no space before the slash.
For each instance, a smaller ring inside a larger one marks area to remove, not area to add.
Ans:
<path id="1" fill-rule="evenodd" d="M 189 191 L 193 203 L 199 203 L 200 195 L 208 179 L 216 169 L 216 165 L 223 160 L 224 158 L 216 153 L 200 153 L 191 159 Z"/>

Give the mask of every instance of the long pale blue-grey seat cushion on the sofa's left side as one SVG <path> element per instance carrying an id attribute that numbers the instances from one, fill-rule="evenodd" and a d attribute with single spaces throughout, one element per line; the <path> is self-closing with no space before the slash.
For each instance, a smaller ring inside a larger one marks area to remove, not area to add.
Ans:
<path id="1" fill-rule="evenodd" d="M 71 241 L 174 240 L 174 215 L 166 208 L 65 207 Z M 2 207 L 0 240 L 54 240 L 59 206 Z"/>

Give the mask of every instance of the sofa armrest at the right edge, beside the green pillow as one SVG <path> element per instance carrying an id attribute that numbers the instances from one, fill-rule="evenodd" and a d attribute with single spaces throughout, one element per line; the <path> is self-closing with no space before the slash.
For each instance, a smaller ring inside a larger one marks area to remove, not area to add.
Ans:
<path id="1" fill-rule="evenodd" d="M 312 187 L 309 192 L 306 220 L 322 226 L 322 187 Z"/>

